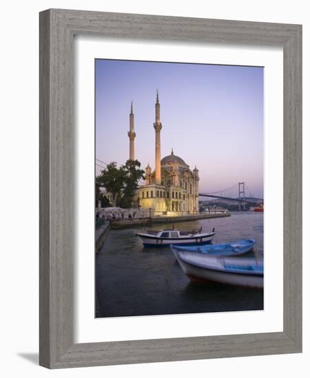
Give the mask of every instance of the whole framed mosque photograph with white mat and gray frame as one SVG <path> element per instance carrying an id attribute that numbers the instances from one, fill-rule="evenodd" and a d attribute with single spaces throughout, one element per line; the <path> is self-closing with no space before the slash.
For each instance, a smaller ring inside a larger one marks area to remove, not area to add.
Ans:
<path id="1" fill-rule="evenodd" d="M 42 366 L 301 351 L 301 56 L 300 25 L 41 12 Z"/>

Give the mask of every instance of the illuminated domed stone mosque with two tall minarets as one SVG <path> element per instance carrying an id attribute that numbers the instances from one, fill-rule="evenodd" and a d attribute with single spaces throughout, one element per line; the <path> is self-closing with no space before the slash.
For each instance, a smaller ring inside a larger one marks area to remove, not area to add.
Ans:
<path id="1" fill-rule="evenodd" d="M 178 216 L 198 214 L 198 169 L 191 170 L 183 159 L 171 151 L 161 159 L 161 105 L 158 91 L 155 104 L 155 168 L 147 164 L 145 184 L 139 186 L 135 204 L 142 209 L 152 209 L 154 215 Z M 134 112 L 130 109 L 130 160 L 134 160 Z"/>

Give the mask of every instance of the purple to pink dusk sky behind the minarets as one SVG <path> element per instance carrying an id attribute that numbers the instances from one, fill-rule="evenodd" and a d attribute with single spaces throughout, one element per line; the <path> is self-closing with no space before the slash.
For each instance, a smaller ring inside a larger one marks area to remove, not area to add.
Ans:
<path id="1" fill-rule="evenodd" d="M 245 181 L 263 197 L 263 67 L 95 60 L 96 158 L 129 158 L 130 102 L 135 157 L 154 170 L 156 89 L 161 103 L 161 157 L 182 157 L 199 170 L 199 192 Z M 96 174 L 100 167 L 96 167 Z M 238 196 L 238 190 L 223 195 Z"/>

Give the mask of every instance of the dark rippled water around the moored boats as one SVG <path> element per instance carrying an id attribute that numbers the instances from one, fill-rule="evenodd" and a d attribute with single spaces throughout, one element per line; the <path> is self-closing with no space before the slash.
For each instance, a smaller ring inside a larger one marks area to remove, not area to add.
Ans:
<path id="1" fill-rule="evenodd" d="M 256 238 L 263 256 L 263 214 L 236 213 L 227 218 L 176 223 L 180 230 L 216 227 L 214 243 Z M 172 224 L 154 225 L 161 230 Z M 263 291 L 189 282 L 169 247 L 143 248 L 135 236 L 151 227 L 112 230 L 96 255 L 97 317 L 204 313 L 263 309 Z"/>

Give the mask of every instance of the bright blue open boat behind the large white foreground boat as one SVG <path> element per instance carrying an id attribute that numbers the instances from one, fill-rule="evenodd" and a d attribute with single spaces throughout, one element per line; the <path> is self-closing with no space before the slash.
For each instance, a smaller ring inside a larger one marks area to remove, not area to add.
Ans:
<path id="1" fill-rule="evenodd" d="M 171 245 L 172 252 L 198 252 L 200 254 L 209 254 L 216 256 L 238 256 L 240 254 L 245 254 L 251 249 L 254 249 L 256 240 L 247 239 L 234 241 L 233 243 L 224 244 L 209 244 L 209 245 L 198 245 L 198 246 L 180 246 Z"/>

